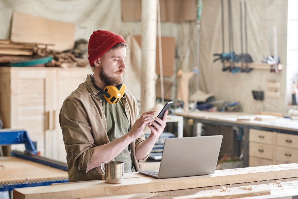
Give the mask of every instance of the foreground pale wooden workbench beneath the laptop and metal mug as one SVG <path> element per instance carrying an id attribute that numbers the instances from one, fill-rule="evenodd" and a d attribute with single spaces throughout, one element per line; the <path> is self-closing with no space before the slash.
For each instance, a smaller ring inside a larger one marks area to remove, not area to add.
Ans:
<path id="1" fill-rule="evenodd" d="M 148 192 L 161 193 L 153 198 L 172 198 L 180 194 L 189 195 L 188 189 L 208 193 L 205 187 L 212 187 L 208 190 L 210 194 L 237 194 L 239 192 L 252 193 L 255 191 L 271 191 L 272 194 L 294 194 L 297 193 L 298 163 L 259 166 L 239 169 L 216 170 L 212 175 L 191 176 L 184 178 L 155 179 L 139 173 L 125 173 L 123 183 L 107 184 L 104 181 L 86 181 L 75 183 L 57 183 L 52 186 L 28 187 L 13 190 L 13 198 L 99 198 L 101 196 L 139 194 Z M 293 178 L 285 180 L 286 178 Z M 281 179 L 281 180 L 279 180 Z M 274 181 L 271 181 L 274 180 Z M 263 184 L 260 188 L 254 186 L 253 182 Z M 270 181 L 270 182 L 269 182 Z M 239 184 L 242 183 L 242 184 Z M 236 188 L 232 188 L 232 185 Z M 266 185 L 268 184 L 268 185 Z M 244 190 L 240 186 L 249 187 L 251 190 Z M 262 187 L 261 187 L 262 186 Z M 204 188 L 203 188 L 204 187 Z M 237 188 L 238 187 L 238 188 Z M 199 189 L 198 189 L 199 188 Z M 174 190 L 180 190 L 180 194 L 171 195 Z M 222 190 L 222 191 L 221 191 Z M 225 190 L 225 191 L 224 191 Z M 167 192 L 166 192 L 167 191 Z M 165 195 L 164 195 L 165 194 Z M 124 196 L 122 198 L 125 198 Z"/>

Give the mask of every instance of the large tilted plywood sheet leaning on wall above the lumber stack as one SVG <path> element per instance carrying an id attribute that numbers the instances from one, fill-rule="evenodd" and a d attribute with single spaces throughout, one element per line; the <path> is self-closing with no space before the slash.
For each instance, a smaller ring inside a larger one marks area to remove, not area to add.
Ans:
<path id="1" fill-rule="evenodd" d="M 14 12 L 10 39 L 14 42 L 55 44 L 48 49 L 64 51 L 74 47 L 75 25 Z"/>

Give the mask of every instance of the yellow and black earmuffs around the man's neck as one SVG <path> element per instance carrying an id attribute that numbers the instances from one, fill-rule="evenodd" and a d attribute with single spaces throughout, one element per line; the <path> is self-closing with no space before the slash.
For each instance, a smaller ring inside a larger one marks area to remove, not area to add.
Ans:
<path id="1" fill-rule="evenodd" d="M 92 77 L 92 84 L 97 90 L 99 90 L 100 92 L 103 93 L 103 97 L 110 104 L 118 103 L 120 98 L 122 98 L 122 96 L 124 95 L 124 91 L 125 91 L 125 85 L 124 84 L 120 84 L 117 87 L 115 87 L 113 85 L 109 85 L 109 86 L 106 86 L 102 90 L 100 87 L 98 87 L 94 83 L 94 78 L 93 77 Z"/>

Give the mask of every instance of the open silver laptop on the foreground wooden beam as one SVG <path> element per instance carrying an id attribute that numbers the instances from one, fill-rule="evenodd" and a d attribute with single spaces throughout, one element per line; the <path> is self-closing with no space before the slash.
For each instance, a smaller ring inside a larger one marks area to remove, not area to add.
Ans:
<path id="1" fill-rule="evenodd" d="M 167 138 L 159 170 L 138 171 L 154 178 L 208 175 L 215 172 L 222 135 Z"/>

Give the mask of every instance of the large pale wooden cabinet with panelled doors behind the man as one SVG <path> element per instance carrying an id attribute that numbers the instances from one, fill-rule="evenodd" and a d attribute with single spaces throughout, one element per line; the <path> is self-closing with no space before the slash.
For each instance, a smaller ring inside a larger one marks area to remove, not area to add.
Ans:
<path id="1" fill-rule="evenodd" d="M 91 67 L 0 67 L 3 127 L 27 130 L 42 156 L 66 162 L 59 111 L 89 73 L 93 73 Z M 12 149 L 25 147 L 19 144 Z"/>

